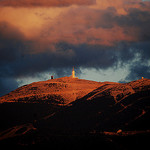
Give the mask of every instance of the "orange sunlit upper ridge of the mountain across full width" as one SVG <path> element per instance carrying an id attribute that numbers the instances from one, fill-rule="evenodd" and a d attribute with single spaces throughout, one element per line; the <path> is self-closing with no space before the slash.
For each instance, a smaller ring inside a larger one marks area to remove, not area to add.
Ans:
<path id="1" fill-rule="evenodd" d="M 98 97 L 111 95 L 115 102 L 135 92 L 150 89 L 149 79 L 139 79 L 129 83 L 96 82 L 72 77 L 62 77 L 47 81 L 33 82 L 21 86 L 16 90 L 0 97 L 0 103 L 4 102 L 38 102 L 38 100 L 54 99 L 54 103 L 68 105 L 86 95 L 92 94 L 87 100 L 96 95 Z M 97 92 L 98 91 L 98 92 Z M 95 93 L 95 94 L 94 94 Z M 51 103 L 53 103 L 51 101 Z"/>

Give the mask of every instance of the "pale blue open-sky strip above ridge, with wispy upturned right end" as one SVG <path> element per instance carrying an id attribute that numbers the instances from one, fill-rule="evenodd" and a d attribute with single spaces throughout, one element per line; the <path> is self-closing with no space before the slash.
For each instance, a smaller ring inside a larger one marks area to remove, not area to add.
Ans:
<path id="1" fill-rule="evenodd" d="M 83 68 L 76 67 L 75 72 L 76 76 L 80 79 L 98 81 L 98 82 L 130 82 L 127 78 L 130 75 L 130 68 L 133 64 L 139 64 L 141 62 L 141 55 L 137 53 L 135 58 L 128 63 L 118 64 L 118 66 L 108 68 L 108 69 L 95 69 L 95 68 Z M 150 66 L 150 61 L 147 62 L 147 65 Z M 59 68 L 56 70 L 50 69 L 49 71 L 45 71 L 42 73 L 37 73 L 34 76 L 19 78 L 16 81 L 18 82 L 18 87 L 23 86 L 25 84 L 30 84 L 32 82 L 38 81 L 46 81 L 51 79 L 51 76 L 54 78 L 61 78 L 65 76 L 71 76 L 72 68 Z M 137 76 L 135 78 L 139 79 Z"/>

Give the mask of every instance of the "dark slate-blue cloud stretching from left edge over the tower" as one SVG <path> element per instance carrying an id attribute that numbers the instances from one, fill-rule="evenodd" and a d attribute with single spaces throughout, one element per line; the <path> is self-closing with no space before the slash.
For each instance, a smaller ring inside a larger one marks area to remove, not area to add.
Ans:
<path id="1" fill-rule="evenodd" d="M 0 23 L 0 33 L 1 78 L 34 76 L 52 68 L 59 70 L 72 66 L 105 69 L 116 62 L 116 54 L 107 46 L 60 42 L 55 45 L 55 51 L 45 45 L 46 51 L 30 53 L 35 48 L 43 47 L 43 43 L 28 41 L 18 29 L 6 22 Z"/>

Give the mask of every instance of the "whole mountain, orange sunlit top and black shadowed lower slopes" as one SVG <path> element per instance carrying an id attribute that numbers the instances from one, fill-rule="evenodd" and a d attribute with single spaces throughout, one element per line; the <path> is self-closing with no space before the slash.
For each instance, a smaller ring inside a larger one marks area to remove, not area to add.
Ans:
<path id="1" fill-rule="evenodd" d="M 30 90 L 33 87 L 34 90 Z M 35 95 L 31 96 L 33 93 Z M 57 97 L 47 99 L 44 94 L 55 94 Z M 31 110 L 40 115 L 2 131 L 2 144 L 34 143 L 36 146 L 62 148 L 65 143 L 68 146 L 69 141 L 75 147 L 77 143 L 83 148 L 101 144 L 112 149 L 149 145 L 150 79 L 114 83 L 64 77 L 23 86 L 1 97 L 1 102 L 4 102 L 0 104 L 3 110 L 16 108 L 17 105 L 26 113 L 30 112 L 24 116 L 31 117 Z"/>

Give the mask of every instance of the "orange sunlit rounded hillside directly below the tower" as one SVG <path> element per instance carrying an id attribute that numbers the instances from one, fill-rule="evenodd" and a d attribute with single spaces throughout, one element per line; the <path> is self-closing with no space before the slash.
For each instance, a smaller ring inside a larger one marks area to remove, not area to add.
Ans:
<path id="1" fill-rule="evenodd" d="M 68 104 L 101 85 L 99 82 L 62 77 L 22 86 L 0 98 L 3 102 L 38 102 Z"/>

